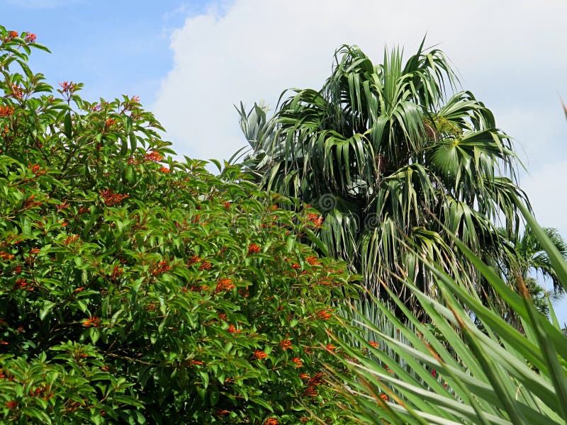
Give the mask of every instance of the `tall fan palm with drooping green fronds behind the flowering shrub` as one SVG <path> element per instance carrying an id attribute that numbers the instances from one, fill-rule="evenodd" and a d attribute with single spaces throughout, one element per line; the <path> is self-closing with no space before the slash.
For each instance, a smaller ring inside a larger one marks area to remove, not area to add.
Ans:
<path id="1" fill-rule="evenodd" d="M 374 293 L 386 282 L 407 298 L 392 276 L 401 273 L 433 295 L 431 273 L 415 252 L 471 276 L 482 292 L 448 235 L 505 265 L 502 246 L 520 224 L 512 199 L 529 203 L 516 184 L 510 138 L 471 92 L 452 93 L 456 84 L 444 54 L 423 42 L 407 62 L 393 49 L 378 65 L 344 45 L 322 89 L 294 89 L 271 120 L 262 106 L 250 113 L 241 106 L 252 147 L 245 166 L 264 189 L 318 208 L 328 253 Z"/>

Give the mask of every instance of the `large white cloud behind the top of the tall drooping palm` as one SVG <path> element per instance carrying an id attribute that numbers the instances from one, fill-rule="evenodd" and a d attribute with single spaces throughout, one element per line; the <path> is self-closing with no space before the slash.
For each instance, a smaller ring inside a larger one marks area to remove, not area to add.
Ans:
<path id="1" fill-rule="evenodd" d="M 567 96 L 567 55 L 557 55 L 566 15 L 567 4 L 551 0 L 237 0 L 223 16 L 212 8 L 174 32 L 174 66 L 154 111 L 180 154 L 228 159 L 245 145 L 233 104 L 275 106 L 283 89 L 320 87 L 342 43 L 380 62 L 384 45 L 412 53 L 427 32 L 427 44 L 440 43 L 464 88 L 488 97 L 497 119 L 498 112 L 508 118 L 505 130 L 517 136 L 532 116 L 549 132 L 539 103 L 558 105 L 557 91 Z"/>

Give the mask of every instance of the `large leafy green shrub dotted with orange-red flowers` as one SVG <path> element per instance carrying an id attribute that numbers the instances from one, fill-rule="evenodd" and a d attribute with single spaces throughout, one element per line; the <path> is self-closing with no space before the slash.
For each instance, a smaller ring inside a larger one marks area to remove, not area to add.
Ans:
<path id="1" fill-rule="evenodd" d="M 0 26 L 1 421 L 342 423 L 320 219 L 174 162 L 136 97 L 55 91 L 35 40 Z"/>

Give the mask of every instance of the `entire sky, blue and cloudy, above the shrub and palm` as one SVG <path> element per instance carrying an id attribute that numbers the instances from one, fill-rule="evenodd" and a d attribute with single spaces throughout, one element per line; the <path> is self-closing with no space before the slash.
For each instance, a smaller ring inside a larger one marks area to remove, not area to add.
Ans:
<path id="1" fill-rule="evenodd" d="M 229 159 L 246 146 L 234 105 L 319 89 L 342 44 L 436 45 L 513 137 L 541 225 L 567 237 L 567 2 L 562 0 L 0 0 L 0 23 L 38 35 L 47 81 L 90 101 L 140 96 L 178 154 Z M 567 300 L 556 306 L 567 321 Z"/>

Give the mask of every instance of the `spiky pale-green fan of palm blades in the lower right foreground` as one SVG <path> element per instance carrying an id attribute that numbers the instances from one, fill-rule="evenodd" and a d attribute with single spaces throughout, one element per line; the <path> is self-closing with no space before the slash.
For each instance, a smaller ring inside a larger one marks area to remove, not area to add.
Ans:
<path id="1" fill-rule="evenodd" d="M 557 284 L 567 288 L 562 253 L 547 236 L 549 232 L 520 208 L 553 264 Z M 430 325 L 420 323 L 393 296 L 407 320 L 394 317 L 379 302 L 376 306 L 403 338 L 393 338 L 389 329 L 378 329 L 359 314 L 377 343 L 354 333 L 366 355 L 350 342 L 341 343 L 350 358 L 345 362 L 358 376 L 346 380 L 347 386 L 342 384 L 344 377 L 337 379 L 339 390 L 352 401 L 353 420 L 364 424 L 383 424 L 383 420 L 392 424 L 567 424 L 567 337 L 556 322 L 551 324 L 537 311 L 521 277 L 515 291 L 465 244 L 457 239 L 455 243 L 515 310 L 523 333 L 464 290 L 460 278 L 451 278 L 426 261 L 439 288 L 439 300 L 428 297 L 407 276 L 401 278 L 419 300 Z M 391 373 L 384 369 L 386 364 Z"/>

